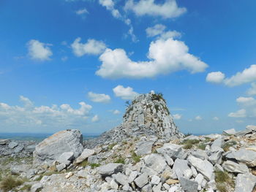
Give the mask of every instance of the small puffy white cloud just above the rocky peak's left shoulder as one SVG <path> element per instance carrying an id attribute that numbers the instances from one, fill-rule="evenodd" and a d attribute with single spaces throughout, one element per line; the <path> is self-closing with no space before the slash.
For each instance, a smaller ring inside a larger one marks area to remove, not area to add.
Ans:
<path id="1" fill-rule="evenodd" d="M 135 99 L 135 96 L 138 96 L 138 93 L 133 91 L 133 88 L 124 88 L 123 85 L 117 85 L 116 88 L 113 88 L 113 92 L 116 96 L 121 97 L 121 99 L 132 100 Z"/>

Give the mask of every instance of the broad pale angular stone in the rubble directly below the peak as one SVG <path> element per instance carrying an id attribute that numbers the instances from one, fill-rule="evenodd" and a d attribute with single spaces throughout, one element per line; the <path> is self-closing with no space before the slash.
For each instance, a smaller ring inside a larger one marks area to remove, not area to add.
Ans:
<path id="1" fill-rule="evenodd" d="M 157 173 L 161 173 L 164 171 L 165 167 L 167 166 L 165 162 L 165 158 L 162 155 L 152 153 L 150 155 L 146 155 L 144 158 L 146 166 L 154 169 Z"/>

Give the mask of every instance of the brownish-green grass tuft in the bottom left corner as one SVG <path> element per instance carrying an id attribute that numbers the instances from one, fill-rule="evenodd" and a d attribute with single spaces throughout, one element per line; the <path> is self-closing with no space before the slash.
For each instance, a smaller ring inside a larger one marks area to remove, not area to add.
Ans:
<path id="1" fill-rule="evenodd" d="M 12 190 L 13 188 L 16 188 L 16 187 L 22 185 L 23 183 L 24 183 L 24 180 L 21 180 L 21 179 L 18 179 L 18 178 L 15 178 L 15 177 L 12 177 L 9 175 L 1 180 L 0 188 L 4 192 L 7 192 L 7 191 Z"/>

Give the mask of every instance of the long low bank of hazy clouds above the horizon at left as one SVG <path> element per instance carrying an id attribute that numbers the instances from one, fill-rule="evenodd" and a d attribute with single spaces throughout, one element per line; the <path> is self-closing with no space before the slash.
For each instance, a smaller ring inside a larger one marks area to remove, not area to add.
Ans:
<path id="1" fill-rule="evenodd" d="M 33 102 L 20 96 L 23 106 L 0 103 L 0 122 L 2 128 L 74 128 L 84 125 L 89 118 L 91 105 L 80 102 L 74 109 L 69 104 L 60 106 L 34 106 Z"/>

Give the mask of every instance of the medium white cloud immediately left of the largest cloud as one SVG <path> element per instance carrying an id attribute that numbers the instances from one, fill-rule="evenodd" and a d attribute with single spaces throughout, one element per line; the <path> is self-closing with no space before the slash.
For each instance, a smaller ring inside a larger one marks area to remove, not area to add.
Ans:
<path id="1" fill-rule="evenodd" d="M 81 43 L 80 41 L 81 38 L 78 37 L 71 45 L 73 53 L 78 57 L 86 54 L 99 55 L 106 49 L 106 45 L 102 41 L 97 41 L 95 39 L 88 39 L 86 43 Z"/>

